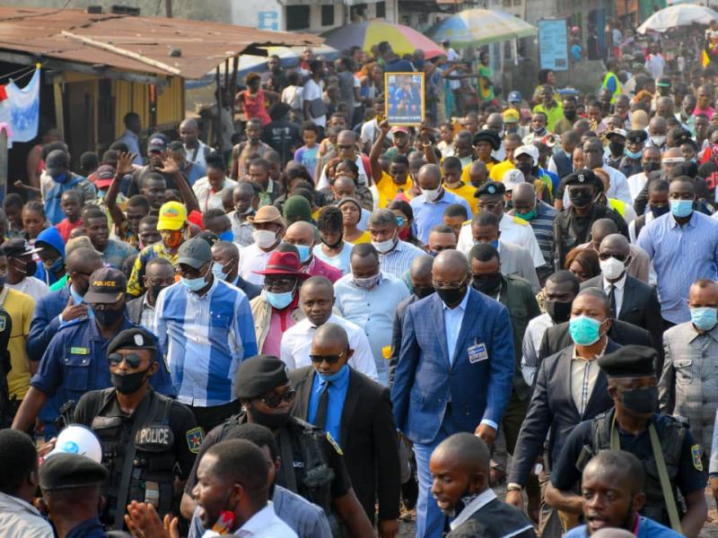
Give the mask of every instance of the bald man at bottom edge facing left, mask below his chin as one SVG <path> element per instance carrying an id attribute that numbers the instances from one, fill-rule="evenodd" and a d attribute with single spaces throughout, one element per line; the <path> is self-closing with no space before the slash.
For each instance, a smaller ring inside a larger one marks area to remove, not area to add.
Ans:
<path id="1" fill-rule="evenodd" d="M 527 517 L 489 487 L 489 459 L 486 443 L 468 432 L 455 433 L 434 449 L 432 495 L 443 515 L 453 518 L 446 538 L 533 538 Z"/>

